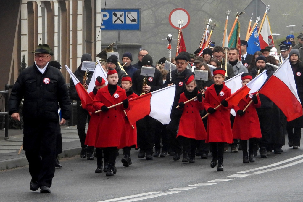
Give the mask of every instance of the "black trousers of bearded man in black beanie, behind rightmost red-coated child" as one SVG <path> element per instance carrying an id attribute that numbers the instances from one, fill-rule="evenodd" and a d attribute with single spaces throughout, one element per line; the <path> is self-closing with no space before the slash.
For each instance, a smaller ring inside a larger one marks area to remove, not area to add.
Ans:
<path id="1" fill-rule="evenodd" d="M 272 119 L 272 108 L 256 108 L 262 138 L 259 140 L 259 147 L 266 147 L 268 150 L 268 146 L 270 144 L 270 131 L 271 131 L 271 119 Z"/>

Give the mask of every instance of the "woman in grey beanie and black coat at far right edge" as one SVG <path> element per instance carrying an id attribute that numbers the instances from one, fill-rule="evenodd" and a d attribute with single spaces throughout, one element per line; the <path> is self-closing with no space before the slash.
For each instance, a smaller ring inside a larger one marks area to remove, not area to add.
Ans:
<path id="1" fill-rule="evenodd" d="M 297 92 L 301 104 L 303 102 L 303 66 L 299 60 L 300 53 L 297 49 L 291 49 L 289 52 L 289 62 L 294 73 Z M 298 149 L 301 140 L 301 128 L 303 128 L 303 116 L 287 123 L 288 146 Z"/>

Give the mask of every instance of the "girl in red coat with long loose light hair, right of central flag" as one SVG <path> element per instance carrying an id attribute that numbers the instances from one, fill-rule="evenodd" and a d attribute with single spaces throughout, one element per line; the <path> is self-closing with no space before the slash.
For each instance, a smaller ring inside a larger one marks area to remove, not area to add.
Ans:
<path id="1" fill-rule="evenodd" d="M 197 84 L 193 75 L 185 78 L 186 89 L 181 93 L 179 99 L 179 109 L 183 110 L 177 138 L 183 146 L 183 163 L 195 163 L 196 145 L 195 140 L 205 140 L 206 131 L 201 120 L 199 110 L 203 110 L 202 95 L 197 89 Z M 184 104 L 184 102 L 197 96 L 196 99 Z"/>

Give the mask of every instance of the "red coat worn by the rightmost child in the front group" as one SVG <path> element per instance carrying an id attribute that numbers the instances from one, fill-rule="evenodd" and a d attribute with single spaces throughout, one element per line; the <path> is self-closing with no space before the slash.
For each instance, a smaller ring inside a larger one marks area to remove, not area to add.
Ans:
<path id="1" fill-rule="evenodd" d="M 239 116 L 238 114 L 236 115 L 234 125 L 232 127 L 232 135 L 235 139 L 249 140 L 249 138 L 253 137 L 262 137 L 260 122 L 256 111 L 256 108 L 261 106 L 261 101 L 259 96 L 257 96 L 257 98 L 258 104 L 252 102 L 245 110 L 243 116 Z M 249 96 L 241 99 L 238 106 L 234 106 L 235 112 L 239 109 L 243 110 L 250 101 L 251 98 Z"/>

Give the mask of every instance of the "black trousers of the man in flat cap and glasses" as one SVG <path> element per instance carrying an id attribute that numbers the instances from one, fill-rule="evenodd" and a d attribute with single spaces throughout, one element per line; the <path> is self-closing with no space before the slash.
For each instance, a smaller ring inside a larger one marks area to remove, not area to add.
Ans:
<path id="1" fill-rule="evenodd" d="M 171 121 L 168 123 L 166 129 L 169 137 L 169 145 L 171 150 L 176 153 L 181 153 L 182 146 L 177 137 L 177 130 L 182 114 L 171 113 Z"/>

